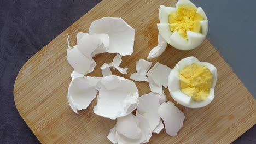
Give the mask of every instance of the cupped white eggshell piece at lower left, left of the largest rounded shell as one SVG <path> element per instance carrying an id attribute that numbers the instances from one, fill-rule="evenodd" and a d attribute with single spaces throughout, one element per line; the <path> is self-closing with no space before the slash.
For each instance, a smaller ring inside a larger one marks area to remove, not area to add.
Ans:
<path id="1" fill-rule="evenodd" d="M 75 77 L 68 87 L 68 103 L 75 113 L 78 110 L 86 109 L 96 97 L 98 88 L 96 83 L 100 77 Z"/>

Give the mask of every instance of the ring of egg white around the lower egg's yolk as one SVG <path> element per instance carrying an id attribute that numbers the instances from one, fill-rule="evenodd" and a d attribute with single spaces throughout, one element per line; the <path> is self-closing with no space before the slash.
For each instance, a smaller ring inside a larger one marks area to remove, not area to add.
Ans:
<path id="1" fill-rule="evenodd" d="M 193 63 L 197 65 L 205 65 L 213 75 L 212 88 L 210 89 L 208 97 L 203 101 L 194 101 L 190 96 L 184 94 L 179 87 L 179 71 L 181 71 L 187 65 L 191 65 Z M 214 67 L 214 65 L 207 62 L 200 62 L 195 57 L 187 57 L 179 61 L 171 71 L 168 77 L 168 89 L 172 98 L 177 101 L 177 103 L 190 108 L 203 107 L 210 104 L 214 99 L 214 87 L 216 86 L 217 76 L 217 69 Z"/>

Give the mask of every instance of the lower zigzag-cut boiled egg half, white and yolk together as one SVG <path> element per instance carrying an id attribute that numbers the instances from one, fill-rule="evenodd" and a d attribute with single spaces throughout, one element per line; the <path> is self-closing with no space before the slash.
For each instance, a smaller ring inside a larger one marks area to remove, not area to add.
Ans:
<path id="1" fill-rule="evenodd" d="M 190 108 L 199 108 L 211 103 L 217 81 L 217 69 L 195 57 L 182 59 L 168 77 L 172 98 Z"/>

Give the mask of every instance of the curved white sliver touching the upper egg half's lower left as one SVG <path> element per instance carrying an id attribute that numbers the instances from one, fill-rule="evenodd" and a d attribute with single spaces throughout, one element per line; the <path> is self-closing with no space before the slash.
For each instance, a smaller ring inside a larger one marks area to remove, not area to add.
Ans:
<path id="1" fill-rule="evenodd" d="M 148 59 L 156 58 L 162 55 L 164 53 L 165 49 L 167 47 L 167 42 L 160 34 L 158 34 L 158 46 L 154 47 L 148 55 Z"/>

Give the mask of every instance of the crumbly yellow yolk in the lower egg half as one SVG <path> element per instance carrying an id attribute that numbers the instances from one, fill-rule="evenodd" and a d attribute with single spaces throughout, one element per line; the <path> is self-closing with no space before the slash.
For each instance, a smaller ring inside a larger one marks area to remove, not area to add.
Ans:
<path id="1" fill-rule="evenodd" d="M 181 91 L 195 101 L 202 101 L 208 97 L 212 83 L 213 75 L 204 65 L 193 63 L 179 73 Z"/>

